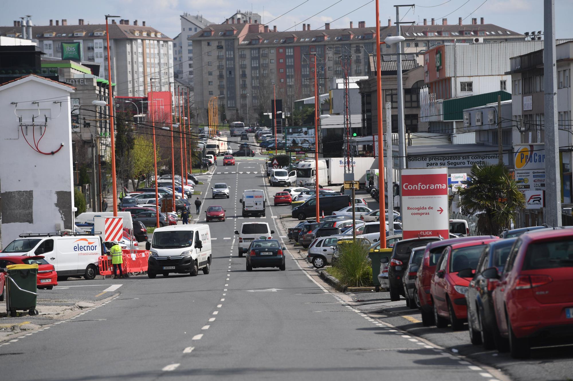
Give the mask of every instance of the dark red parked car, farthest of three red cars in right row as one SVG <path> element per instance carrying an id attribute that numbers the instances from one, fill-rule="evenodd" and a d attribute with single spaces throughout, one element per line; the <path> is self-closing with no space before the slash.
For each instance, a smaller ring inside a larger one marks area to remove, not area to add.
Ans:
<path id="1" fill-rule="evenodd" d="M 426 245 L 422 263 L 418 268 L 418 275 L 415 281 L 415 290 L 417 297 L 414 296 L 419 309 L 422 311 L 422 325 L 427 327 L 434 324 L 434 312 L 431 303 L 430 281 L 434 276 L 435 264 L 442 255 L 444 249 L 451 244 L 459 242 L 468 242 L 474 240 L 486 240 L 497 238 L 496 236 L 473 236 L 451 238 L 443 241 L 430 242 Z"/>

